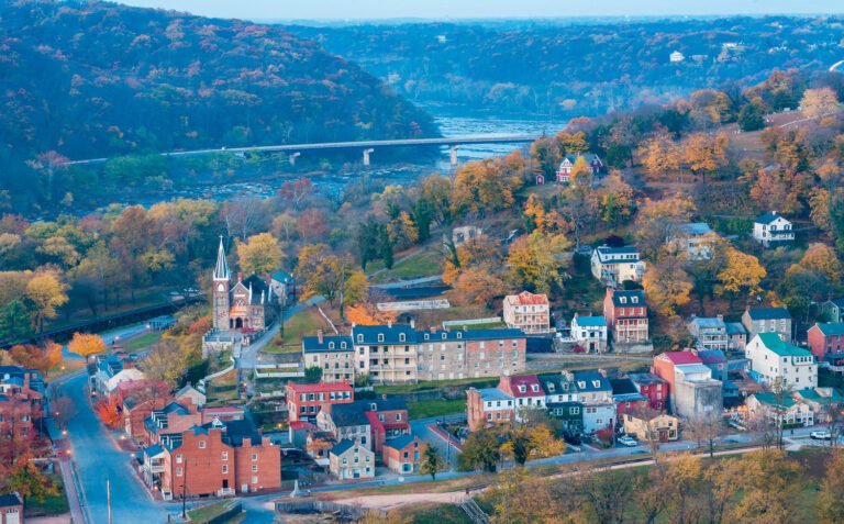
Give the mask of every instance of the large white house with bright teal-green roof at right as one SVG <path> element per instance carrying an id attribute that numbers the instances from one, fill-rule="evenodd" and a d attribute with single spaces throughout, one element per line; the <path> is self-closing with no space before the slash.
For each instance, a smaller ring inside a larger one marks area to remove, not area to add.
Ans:
<path id="1" fill-rule="evenodd" d="M 782 341 L 778 333 L 760 333 L 747 344 L 749 371 L 760 382 L 792 389 L 818 387 L 818 364 L 807 349 Z"/>

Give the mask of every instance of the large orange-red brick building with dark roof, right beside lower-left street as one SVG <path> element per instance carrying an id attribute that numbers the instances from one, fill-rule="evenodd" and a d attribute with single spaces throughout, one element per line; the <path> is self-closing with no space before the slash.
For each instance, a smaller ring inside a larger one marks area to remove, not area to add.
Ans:
<path id="1" fill-rule="evenodd" d="M 213 420 L 144 449 L 146 484 L 165 500 L 276 491 L 281 451 L 249 421 Z"/>

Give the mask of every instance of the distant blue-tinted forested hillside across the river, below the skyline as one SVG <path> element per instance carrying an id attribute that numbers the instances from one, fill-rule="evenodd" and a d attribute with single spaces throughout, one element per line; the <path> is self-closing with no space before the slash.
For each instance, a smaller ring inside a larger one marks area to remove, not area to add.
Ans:
<path id="1" fill-rule="evenodd" d="M 706 87 L 755 83 L 775 68 L 826 69 L 844 58 L 841 19 L 287 29 L 354 60 L 417 102 L 553 116 L 632 109 Z M 675 51 L 684 62 L 669 62 Z"/>

